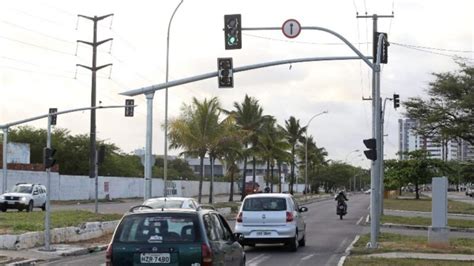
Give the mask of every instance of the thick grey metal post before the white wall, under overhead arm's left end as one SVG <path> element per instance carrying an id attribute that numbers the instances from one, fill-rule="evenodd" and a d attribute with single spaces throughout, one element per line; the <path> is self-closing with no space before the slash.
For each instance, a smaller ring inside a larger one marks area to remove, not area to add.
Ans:
<path id="1" fill-rule="evenodd" d="M 151 145 L 153 137 L 153 96 L 155 93 L 146 94 L 146 106 L 147 106 L 147 115 L 146 115 L 146 145 L 145 145 L 145 191 L 144 191 L 144 200 L 147 200 L 151 197 L 151 175 L 152 175 L 152 165 L 151 165 Z"/>

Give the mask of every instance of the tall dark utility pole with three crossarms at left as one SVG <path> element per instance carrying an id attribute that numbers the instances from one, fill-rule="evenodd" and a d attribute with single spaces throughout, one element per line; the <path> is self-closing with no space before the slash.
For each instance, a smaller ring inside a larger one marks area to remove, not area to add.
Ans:
<path id="1" fill-rule="evenodd" d="M 89 150 L 89 177 L 90 178 L 97 178 L 97 172 L 96 172 L 96 161 L 97 161 L 97 156 L 96 156 L 96 122 L 95 122 L 95 106 L 96 106 L 96 72 L 97 70 L 100 70 L 104 67 L 111 66 L 112 64 L 106 64 L 102 66 L 97 66 L 97 46 L 113 40 L 112 38 L 102 40 L 100 42 L 97 41 L 97 22 L 100 20 L 103 20 L 105 18 L 108 18 L 110 16 L 113 16 L 114 14 L 108 14 L 105 16 L 94 16 L 94 17 L 88 17 L 88 16 L 83 16 L 83 15 L 77 15 L 78 17 L 85 18 L 88 20 L 92 20 L 94 23 L 94 33 L 93 33 L 93 39 L 92 42 L 86 42 L 86 41 L 80 41 L 78 40 L 78 43 L 84 43 L 87 45 L 92 46 L 92 67 L 88 67 L 85 65 L 81 64 L 76 64 L 76 66 L 80 66 L 86 69 L 89 69 L 92 72 L 92 84 L 91 84 L 91 127 L 90 127 L 90 150 Z M 97 184 L 97 182 L 96 182 Z"/>

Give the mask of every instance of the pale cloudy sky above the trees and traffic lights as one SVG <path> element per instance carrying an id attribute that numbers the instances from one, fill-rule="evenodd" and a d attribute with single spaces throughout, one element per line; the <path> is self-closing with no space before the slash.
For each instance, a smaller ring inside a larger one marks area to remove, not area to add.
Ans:
<path id="1" fill-rule="evenodd" d="M 167 28 L 179 0 L 16 0 L 0 9 L 0 125 L 59 111 L 90 106 L 92 49 L 77 40 L 92 41 L 93 24 L 78 19 L 113 13 L 98 23 L 97 65 L 112 63 L 98 72 L 97 104 L 123 105 L 121 92 L 165 82 Z M 333 30 L 364 55 L 372 54 L 372 19 L 378 31 L 388 33 L 388 64 L 381 72 L 381 96 L 426 97 L 432 73 L 458 70 L 454 57 L 472 64 L 474 50 L 472 0 L 184 0 L 171 25 L 169 80 L 217 70 L 217 58 L 232 57 L 234 67 L 305 57 L 355 56 L 339 39 L 325 32 L 302 30 L 295 39 L 279 30 L 243 31 L 242 49 L 225 50 L 225 14 L 241 14 L 243 27 L 281 27 L 287 19 L 301 26 Z M 280 125 L 290 116 L 324 147 L 329 159 L 369 167 L 362 140 L 371 137 L 371 71 L 361 60 L 322 61 L 281 65 L 234 75 L 234 88 L 218 89 L 217 78 L 169 89 L 169 118 L 183 104 L 218 97 L 224 109 L 233 109 L 245 95 L 258 99 L 264 114 Z M 123 152 L 145 146 L 146 98 L 134 97 L 134 117 L 123 109 L 97 111 L 97 138 L 115 143 Z M 396 158 L 398 119 L 387 100 L 385 158 Z M 153 153 L 164 153 L 165 93 L 157 91 L 153 106 Z M 57 126 L 72 134 L 89 134 L 88 111 L 59 116 Z M 46 128 L 47 121 L 28 125 Z M 169 150 L 176 155 L 178 150 Z"/>

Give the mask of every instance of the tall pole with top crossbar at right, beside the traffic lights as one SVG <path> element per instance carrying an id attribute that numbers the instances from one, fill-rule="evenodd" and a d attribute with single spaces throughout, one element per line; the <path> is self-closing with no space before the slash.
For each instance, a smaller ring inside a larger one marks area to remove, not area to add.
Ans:
<path id="1" fill-rule="evenodd" d="M 373 64 L 375 67 L 372 69 L 372 136 L 376 139 L 377 147 L 377 160 L 372 161 L 371 171 L 371 188 L 370 193 L 370 248 L 377 248 L 377 239 L 380 232 L 380 186 L 381 186 L 381 173 L 383 171 L 381 162 L 383 161 L 383 150 L 382 150 L 382 138 L 381 135 L 381 99 L 380 99 L 380 61 L 377 61 L 377 50 L 379 34 L 377 32 L 377 21 L 378 18 L 393 18 L 392 15 L 377 15 L 373 14 L 368 16 L 359 16 L 357 18 L 372 18 L 373 21 Z"/>

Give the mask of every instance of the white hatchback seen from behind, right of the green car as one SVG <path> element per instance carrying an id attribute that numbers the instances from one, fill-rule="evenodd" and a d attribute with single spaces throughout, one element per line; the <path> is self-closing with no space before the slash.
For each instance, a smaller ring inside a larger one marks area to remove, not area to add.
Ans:
<path id="1" fill-rule="evenodd" d="M 296 251 L 306 244 L 303 212 L 291 194 L 265 193 L 247 196 L 240 206 L 234 233 L 240 244 L 283 243 Z"/>

